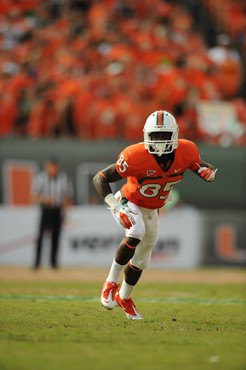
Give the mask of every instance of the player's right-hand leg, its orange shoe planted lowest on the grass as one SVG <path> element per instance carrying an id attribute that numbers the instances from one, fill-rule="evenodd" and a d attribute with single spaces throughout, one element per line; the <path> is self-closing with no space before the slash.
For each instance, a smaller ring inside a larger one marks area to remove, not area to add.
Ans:
<path id="1" fill-rule="evenodd" d="M 116 301 L 123 308 L 128 319 L 142 319 L 131 296 L 143 269 L 150 261 L 152 250 L 158 237 L 159 218 L 156 211 L 147 212 L 143 215 L 146 232 L 142 241 L 136 247 L 135 253 L 124 270 L 125 277 L 119 293 L 116 294 Z"/>

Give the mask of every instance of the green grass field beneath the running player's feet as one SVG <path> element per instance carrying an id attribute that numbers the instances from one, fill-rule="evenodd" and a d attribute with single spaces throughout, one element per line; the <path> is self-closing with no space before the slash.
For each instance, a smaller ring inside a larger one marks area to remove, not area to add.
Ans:
<path id="1" fill-rule="evenodd" d="M 139 283 L 142 321 L 101 284 L 2 282 L 0 369 L 246 369 L 243 284 Z"/>

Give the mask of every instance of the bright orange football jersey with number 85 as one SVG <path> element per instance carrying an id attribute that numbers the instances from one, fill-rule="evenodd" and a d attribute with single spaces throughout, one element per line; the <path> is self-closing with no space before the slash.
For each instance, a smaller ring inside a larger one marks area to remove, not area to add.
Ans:
<path id="1" fill-rule="evenodd" d="M 200 155 L 195 143 L 178 140 L 174 151 L 174 161 L 166 172 L 157 163 L 144 143 L 130 145 L 118 157 L 116 170 L 122 178 L 127 178 L 122 194 L 139 207 L 157 209 L 164 206 L 172 187 L 182 180 L 187 169 L 199 168 Z"/>

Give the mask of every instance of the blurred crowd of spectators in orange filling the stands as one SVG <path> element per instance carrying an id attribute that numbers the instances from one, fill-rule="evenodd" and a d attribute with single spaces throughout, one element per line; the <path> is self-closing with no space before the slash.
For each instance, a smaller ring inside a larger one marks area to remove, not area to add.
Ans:
<path id="1" fill-rule="evenodd" d="M 1 0 L 0 136 L 142 140 L 146 117 L 165 109 L 180 136 L 217 140 L 199 127 L 200 101 L 230 102 L 245 127 L 233 37 L 246 28 L 210 47 L 183 3 Z"/>

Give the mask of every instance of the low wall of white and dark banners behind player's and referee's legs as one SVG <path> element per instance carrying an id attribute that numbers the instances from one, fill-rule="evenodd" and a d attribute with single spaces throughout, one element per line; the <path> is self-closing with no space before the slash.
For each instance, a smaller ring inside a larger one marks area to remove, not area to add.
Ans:
<path id="1" fill-rule="evenodd" d="M 38 207 L 0 207 L 0 265 L 32 266 Z M 201 212 L 190 206 L 160 213 L 160 230 L 150 267 L 242 266 L 246 262 L 245 214 Z M 62 267 L 105 267 L 124 233 L 104 206 L 72 207 L 61 236 Z M 50 239 L 43 245 L 48 264 Z"/>

